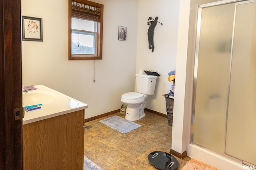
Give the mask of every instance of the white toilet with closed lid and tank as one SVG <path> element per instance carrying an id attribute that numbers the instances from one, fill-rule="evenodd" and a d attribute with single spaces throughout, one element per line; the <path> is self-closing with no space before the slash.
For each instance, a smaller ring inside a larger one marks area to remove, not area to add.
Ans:
<path id="1" fill-rule="evenodd" d="M 121 101 L 126 105 L 125 119 L 138 121 L 146 116 L 144 109 L 148 95 L 154 95 L 156 75 L 136 74 L 136 92 L 124 93 Z"/>

